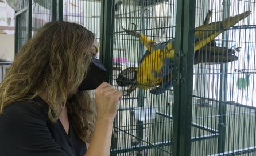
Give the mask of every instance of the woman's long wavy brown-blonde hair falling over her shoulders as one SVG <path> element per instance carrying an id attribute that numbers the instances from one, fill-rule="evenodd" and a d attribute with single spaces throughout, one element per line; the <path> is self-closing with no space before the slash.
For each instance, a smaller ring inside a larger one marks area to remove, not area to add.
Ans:
<path id="1" fill-rule="evenodd" d="M 44 93 L 49 119 L 56 122 L 61 109 L 67 106 L 77 135 L 90 142 L 94 101 L 87 91 L 76 90 L 87 74 L 94 39 L 91 31 L 76 23 L 46 23 L 22 46 L 7 71 L 0 85 L 0 114 L 13 102 Z"/>

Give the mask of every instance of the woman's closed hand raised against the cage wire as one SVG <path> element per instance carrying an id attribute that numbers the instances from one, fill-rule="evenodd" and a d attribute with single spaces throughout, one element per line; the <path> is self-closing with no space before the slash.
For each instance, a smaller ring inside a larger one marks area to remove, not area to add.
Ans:
<path id="1" fill-rule="evenodd" d="M 103 82 L 95 89 L 95 102 L 98 119 L 114 120 L 117 114 L 118 102 L 121 100 L 122 93 L 110 84 Z"/>

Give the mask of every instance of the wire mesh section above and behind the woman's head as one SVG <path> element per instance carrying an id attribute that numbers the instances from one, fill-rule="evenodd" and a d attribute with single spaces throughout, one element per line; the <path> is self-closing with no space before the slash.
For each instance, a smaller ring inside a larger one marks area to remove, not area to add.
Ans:
<path id="1" fill-rule="evenodd" d="M 24 6 L 28 6 L 29 1 L 24 1 Z M 17 31 L 18 49 L 28 40 L 28 33 L 32 35 L 36 33 L 38 28 L 45 23 L 56 20 L 63 20 L 78 23 L 93 33 L 99 42 L 100 38 L 100 0 L 33 0 L 32 13 L 25 10 L 17 16 L 17 23 L 20 31 Z M 63 12 L 61 12 L 61 10 Z M 28 14 L 32 16 L 32 20 L 28 23 Z M 58 17 L 58 18 L 57 18 Z M 60 19 L 61 17 L 61 19 Z M 32 30 L 28 32 L 28 25 Z"/>

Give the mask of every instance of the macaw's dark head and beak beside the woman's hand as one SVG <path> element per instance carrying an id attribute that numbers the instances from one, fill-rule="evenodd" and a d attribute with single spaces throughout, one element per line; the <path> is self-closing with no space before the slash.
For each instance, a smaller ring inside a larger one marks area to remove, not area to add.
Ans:
<path id="1" fill-rule="evenodd" d="M 118 86 L 130 86 L 133 82 L 136 81 L 138 68 L 136 67 L 129 67 L 122 70 L 117 77 L 117 85 Z"/>

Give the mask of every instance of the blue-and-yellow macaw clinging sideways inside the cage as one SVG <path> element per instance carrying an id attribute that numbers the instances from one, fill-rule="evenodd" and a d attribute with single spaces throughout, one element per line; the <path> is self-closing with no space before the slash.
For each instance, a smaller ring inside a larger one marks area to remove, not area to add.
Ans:
<path id="1" fill-rule="evenodd" d="M 250 14 L 251 11 L 246 11 L 222 21 L 209 23 L 211 17 L 211 11 L 209 10 L 203 25 L 195 28 L 194 64 L 221 64 L 237 60 L 238 57 L 233 54 L 235 51 L 239 51 L 239 47 L 236 49 L 218 47 L 214 38 Z M 150 90 L 150 93 L 161 94 L 172 87 L 174 83 L 174 38 L 163 43 L 156 43 L 146 35 L 138 33 L 137 25 L 134 26 L 134 30 L 123 27 L 122 29 L 127 34 L 138 37 L 147 49 L 139 62 L 139 67 L 129 67 L 118 74 L 116 80 L 118 86 L 129 86 L 124 95 L 129 95 L 136 88 L 149 89 L 156 86 L 158 87 Z"/>

